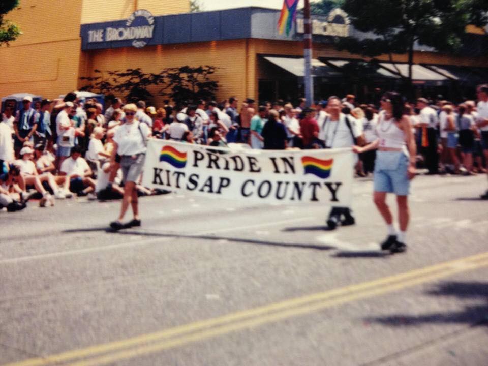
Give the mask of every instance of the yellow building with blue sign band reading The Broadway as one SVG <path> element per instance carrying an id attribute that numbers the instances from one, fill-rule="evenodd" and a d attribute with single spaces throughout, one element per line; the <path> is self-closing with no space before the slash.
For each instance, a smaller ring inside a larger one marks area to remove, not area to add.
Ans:
<path id="1" fill-rule="evenodd" d="M 10 47 L 0 48 L 0 95 L 29 92 L 54 98 L 83 86 L 80 77 L 108 77 L 109 71 L 128 68 L 158 73 L 185 65 L 218 68 L 212 78 L 219 82 L 219 100 L 230 96 L 293 100 L 300 95 L 302 19 L 298 17 L 291 34 L 285 36 L 278 33 L 278 10 L 188 11 L 186 0 L 75 0 L 69 7 L 59 0 L 24 0 L 22 8 L 9 14 L 24 34 Z M 335 50 L 331 42 L 331 37 L 356 33 L 347 15 L 337 10 L 328 17 L 316 17 L 313 32 L 316 97 L 334 90 L 337 94 L 367 93 L 364 83 L 354 84 L 357 80 L 344 72 L 346 64 L 363 59 Z M 415 83 L 424 91 L 434 87 L 448 91 L 452 82 L 462 84 L 473 75 L 483 79 L 483 68 L 488 65 L 483 53 L 486 34 L 483 29 L 472 32 L 477 33 L 473 47 L 479 50 L 464 56 L 417 47 Z M 407 56 L 393 55 L 393 59 L 406 62 Z M 370 87 L 398 83 L 401 68 L 392 67 L 386 55 L 378 61 L 377 70 L 364 77 Z M 476 71 L 470 74 L 471 70 Z M 488 72 L 485 75 L 488 78 Z M 162 104 L 158 88 L 149 90 L 155 95 L 150 102 Z"/>

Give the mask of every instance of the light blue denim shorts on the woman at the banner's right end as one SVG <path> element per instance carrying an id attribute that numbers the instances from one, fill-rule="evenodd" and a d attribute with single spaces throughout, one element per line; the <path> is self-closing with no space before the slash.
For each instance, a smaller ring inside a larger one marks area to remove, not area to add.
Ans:
<path id="1" fill-rule="evenodd" d="M 374 172 L 375 192 L 394 193 L 397 196 L 408 196 L 410 180 L 408 179 L 409 159 L 403 151 L 377 151 Z"/>

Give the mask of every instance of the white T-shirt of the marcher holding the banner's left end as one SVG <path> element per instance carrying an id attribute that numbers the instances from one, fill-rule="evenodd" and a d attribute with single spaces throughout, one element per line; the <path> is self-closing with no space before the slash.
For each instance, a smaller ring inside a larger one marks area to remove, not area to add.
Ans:
<path id="1" fill-rule="evenodd" d="M 113 136 L 113 140 L 118 145 L 117 154 L 122 156 L 145 153 L 146 146 L 142 136 L 144 135 L 147 139 L 149 133 L 149 127 L 139 121 L 121 125 Z"/>

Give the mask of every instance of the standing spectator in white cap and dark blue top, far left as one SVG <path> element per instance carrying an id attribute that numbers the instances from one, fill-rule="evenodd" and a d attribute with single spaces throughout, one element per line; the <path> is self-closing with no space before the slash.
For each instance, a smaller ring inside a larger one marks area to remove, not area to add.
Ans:
<path id="1" fill-rule="evenodd" d="M 25 96 L 22 100 L 22 108 L 17 111 L 14 121 L 14 151 L 19 156 L 19 151 L 25 141 L 33 140 L 33 135 L 39 124 L 39 113 L 32 108 L 32 97 Z"/>

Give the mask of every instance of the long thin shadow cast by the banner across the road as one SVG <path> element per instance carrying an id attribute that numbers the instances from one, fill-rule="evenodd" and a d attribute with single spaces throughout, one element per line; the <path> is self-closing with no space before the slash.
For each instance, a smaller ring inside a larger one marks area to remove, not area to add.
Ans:
<path id="1" fill-rule="evenodd" d="M 120 230 L 120 231 L 113 231 L 110 228 L 106 228 L 106 227 L 70 229 L 70 230 L 64 230 L 63 232 L 64 233 L 76 233 L 76 232 L 94 232 L 94 231 L 114 233 L 117 235 L 174 237 L 174 238 L 183 238 L 183 239 L 204 239 L 204 240 L 212 240 L 212 241 L 229 240 L 229 241 L 234 241 L 234 242 L 239 242 L 239 243 L 266 245 L 266 246 L 284 247 L 284 248 L 300 248 L 300 249 L 315 249 L 315 250 L 335 249 L 334 247 L 327 246 L 327 245 L 315 245 L 315 244 L 303 244 L 303 243 L 285 243 L 285 242 L 236 238 L 236 237 L 224 237 L 224 236 L 214 236 L 214 235 L 184 235 L 184 234 L 177 234 L 177 233 L 171 233 L 171 232 L 162 233 L 162 232 L 150 232 L 150 231 L 135 231 L 135 230 L 127 230 L 127 229 L 126 230 Z"/>

